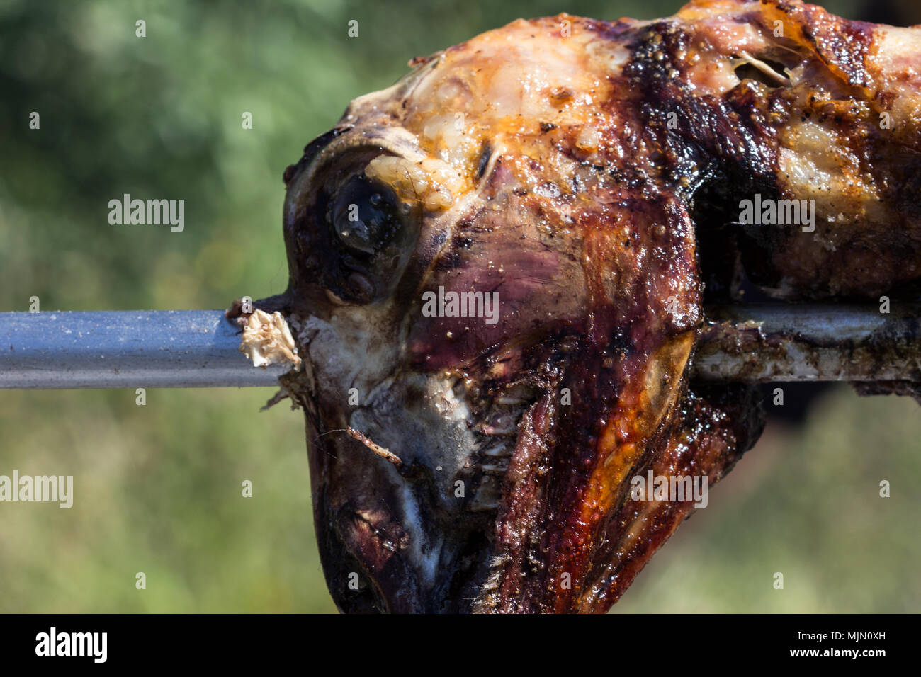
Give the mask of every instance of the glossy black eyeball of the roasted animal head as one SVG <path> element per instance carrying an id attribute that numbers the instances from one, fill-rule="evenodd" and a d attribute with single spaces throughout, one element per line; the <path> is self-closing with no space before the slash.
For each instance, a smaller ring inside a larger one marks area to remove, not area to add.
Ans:
<path id="1" fill-rule="evenodd" d="M 403 229 L 396 196 L 363 176 L 353 177 L 336 191 L 326 220 L 339 243 L 367 256 L 387 250 Z"/>

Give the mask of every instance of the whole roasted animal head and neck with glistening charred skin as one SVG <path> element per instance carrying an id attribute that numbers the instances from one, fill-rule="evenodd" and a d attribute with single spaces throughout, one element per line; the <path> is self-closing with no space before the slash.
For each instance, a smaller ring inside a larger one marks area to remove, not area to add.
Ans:
<path id="1" fill-rule="evenodd" d="M 916 29 L 702 1 L 519 20 L 353 101 L 286 170 L 290 283 L 263 304 L 304 356 L 283 382 L 340 609 L 608 610 L 694 509 L 631 478 L 713 484 L 761 431 L 751 391 L 687 381 L 705 284 L 921 274 L 918 53 Z M 815 230 L 733 224 L 753 193 L 814 199 Z M 424 312 L 439 289 L 495 292 L 495 321 Z"/>

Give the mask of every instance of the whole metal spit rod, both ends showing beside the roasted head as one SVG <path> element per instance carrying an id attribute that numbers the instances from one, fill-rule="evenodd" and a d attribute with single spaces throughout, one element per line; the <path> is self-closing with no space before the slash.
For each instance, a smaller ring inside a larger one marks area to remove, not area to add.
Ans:
<path id="1" fill-rule="evenodd" d="M 694 378 L 921 380 L 921 307 L 711 308 Z M 273 386 L 223 310 L 0 313 L 0 389 Z"/>

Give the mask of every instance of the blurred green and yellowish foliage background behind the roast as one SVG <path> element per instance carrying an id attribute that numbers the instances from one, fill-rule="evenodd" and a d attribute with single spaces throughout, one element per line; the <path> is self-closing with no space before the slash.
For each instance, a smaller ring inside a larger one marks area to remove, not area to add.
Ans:
<path id="1" fill-rule="evenodd" d="M 350 99 L 514 18 L 679 5 L 0 0 L 0 310 L 32 296 L 42 310 L 225 308 L 281 292 L 282 171 Z M 184 199 L 184 232 L 110 226 L 122 193 Z M 76 484 L 70 510 L 0 504 L 0 611 L 334 611 L 302 417 L 260 413 L 272 394 L 148 390 L 137 406 L 127 390 L 0 391 L 0 474 Z M 917 405 L 833 389 L 803 426 L 768 426 L 615 611 L 918 611 L 919 475 Z"/>

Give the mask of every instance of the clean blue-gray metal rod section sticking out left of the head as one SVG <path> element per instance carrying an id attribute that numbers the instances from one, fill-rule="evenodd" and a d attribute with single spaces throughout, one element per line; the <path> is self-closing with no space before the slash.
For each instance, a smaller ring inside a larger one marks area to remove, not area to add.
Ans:
<path id="1" fill-rule="evenodd" d="M 223 310 L 0 313 L 0 389 L 273 386 Z"/>

